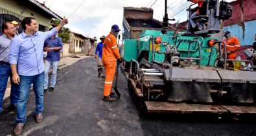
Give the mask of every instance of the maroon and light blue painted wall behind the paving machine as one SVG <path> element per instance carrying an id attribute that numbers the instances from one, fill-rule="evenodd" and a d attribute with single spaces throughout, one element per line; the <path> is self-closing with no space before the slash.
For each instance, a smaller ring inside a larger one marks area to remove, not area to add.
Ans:
<path id="1" fill-rule="evenodd" d="M 237 0 L 230 3 L 233 13 L 224 21 L 224 31 L 229 30 L 239 38 L 241 45 L 252 45 L 256 34 L 256 0 Z"/>

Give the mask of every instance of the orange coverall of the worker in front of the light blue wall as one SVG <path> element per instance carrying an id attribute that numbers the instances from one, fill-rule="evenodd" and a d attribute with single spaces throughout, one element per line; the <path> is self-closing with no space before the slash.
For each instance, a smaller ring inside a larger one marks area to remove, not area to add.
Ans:
<path id="1" fill-rule="evenodd" d="M 227 54 L 227 59 L 235 60 L 235 58 L 237 57 L 237 52 L 233 51 L 237 51 L 240 48 L 239 38 L 231 36 L 229 40 L 225 39 L 224 42 L 226 43 L 227 46 L 227 52 L 231 52 L 230 54 Z"/>

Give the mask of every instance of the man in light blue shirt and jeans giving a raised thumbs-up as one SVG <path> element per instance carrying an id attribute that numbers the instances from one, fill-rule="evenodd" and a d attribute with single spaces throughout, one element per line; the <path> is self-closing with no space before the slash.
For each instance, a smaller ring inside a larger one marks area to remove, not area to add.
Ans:
<path id="1" fill-rule="evenodd" d="M 19 97 L 17 100 L 16 127 L 14 134 L 22 133 L 26 122 L 27 100 L 29 90 L 33 84 L 36 95 L 36 122 L 43 120 L 43 43 L 47 38 L 56 35 L 68 21 L 64 17 L 62 22 L 49 32 L 38 31 L 38 23 L 34 17 L 25 17 L 21 21 L 23 32 L 15 36 L 10 44 L 9 63 L 12 69 L 12 80 L 19 84 Z M 18 65 L 18 67 L 17 67 Z"/>

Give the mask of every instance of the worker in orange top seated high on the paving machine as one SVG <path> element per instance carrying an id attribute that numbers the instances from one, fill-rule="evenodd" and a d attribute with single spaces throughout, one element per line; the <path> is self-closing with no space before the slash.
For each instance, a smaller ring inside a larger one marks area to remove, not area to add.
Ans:
<path id="1" fill-rule="evenodd" d="M 202 10 L 200 9 L 203 4 L 204 4 L 204 0 L 187 0 L 187 1 L 191 1 L 192 3 L 198 3 L 198 10 L 196 10 L 196 12 L 194 12 L 193 14 L 191 14 L 191 16 L 189 17 L 189 21 L 191 23 L 192 28 L 196 28 L 196 22 L 194 22 L 192 20 L 193 17 L 199 16 L 202 13 Z M 202 30 L 203 29 L 203 23 L 198 23 L 198 30 Z"/>

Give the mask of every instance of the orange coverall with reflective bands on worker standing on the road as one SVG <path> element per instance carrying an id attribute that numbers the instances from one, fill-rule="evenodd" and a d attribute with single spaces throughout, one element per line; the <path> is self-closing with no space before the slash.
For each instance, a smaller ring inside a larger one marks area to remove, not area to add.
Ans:
<path id="1" fill-rule="evenodd" d="M 102 48 L 102 62 L 106 71 L 104 96 L 109 96 L 111 93 L 112 82 L 115 78 L 115 65 L 117 59 L 121 59 L 119 48 L 117 47 L 117 38 L 110 32 L 110 34 L 106 36 Z"/>

